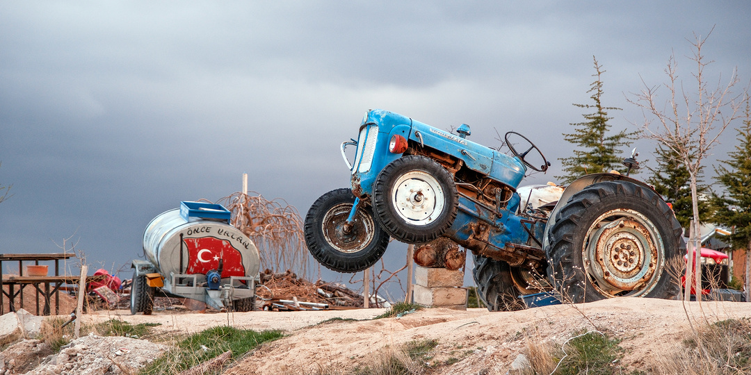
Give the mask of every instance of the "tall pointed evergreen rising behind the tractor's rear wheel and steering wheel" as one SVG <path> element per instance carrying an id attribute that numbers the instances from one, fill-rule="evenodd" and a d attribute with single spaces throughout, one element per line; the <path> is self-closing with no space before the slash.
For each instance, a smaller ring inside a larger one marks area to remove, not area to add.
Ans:
<path id="1" fill-rule="evenodd" d="M 597 62 L 597 58 L 593 56 L 593 60 L 596 71 L 593 77 L 597 77 L 597 80 L 590 85 L 587 92 L 592 93 L 590 98 L 594 104 L 574 105 L 587 110 L 594 109 L 595 112 L 584 115 L 587 121 L 572 124 L 575 127 L 574 133 L 563 133 L 563 139 L 578 146 L 578 149 L 574 150 L 574 156 L 558 159 L 561 160 L 564 174 L 557 175 L 556 178 L 561 178 L 566 184 L 588 173 L 610 172 L 613 169 L 625 172 L 626 168 L 621 165 L 623 155 L 620 148 L 631 145 L 631 140 L 635 139 L 636 132 L 627 133 L 626 130 L 608 136 L 611 127 L 608 124 L 608 120 L 611 119 L 608 117 L 608 111 L 620 108 L 602 106 L 601 78 L 605 71 Z"/>

